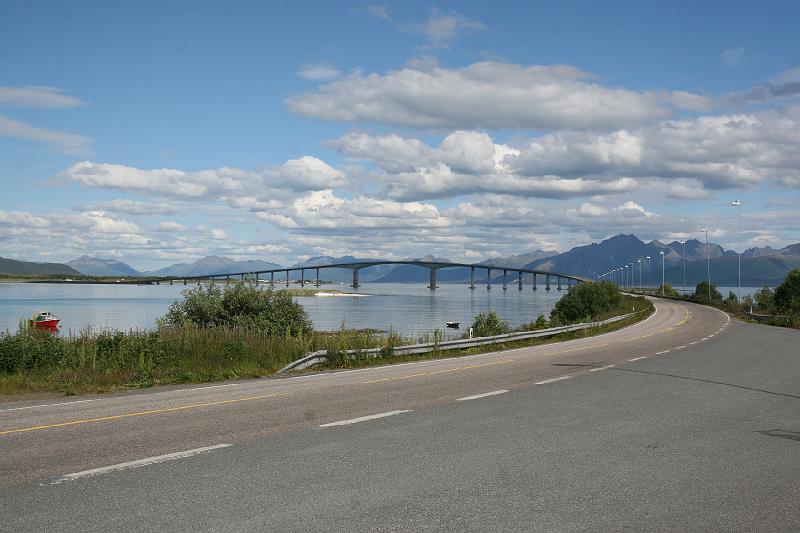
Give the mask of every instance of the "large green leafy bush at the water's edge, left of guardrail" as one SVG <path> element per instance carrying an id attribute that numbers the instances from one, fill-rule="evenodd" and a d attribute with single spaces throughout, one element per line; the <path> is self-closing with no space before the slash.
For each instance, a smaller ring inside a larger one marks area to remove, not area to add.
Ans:
<path id="1" fill-rule="evenodd" d="M 210 284 L 183 291 L 162 323 L 168 327 L 241 327 L 271 336 L 309 334 L 311 321 L 303 306 L 286 291 L 263 290 L 244 281 L 220 288 Z"/>

